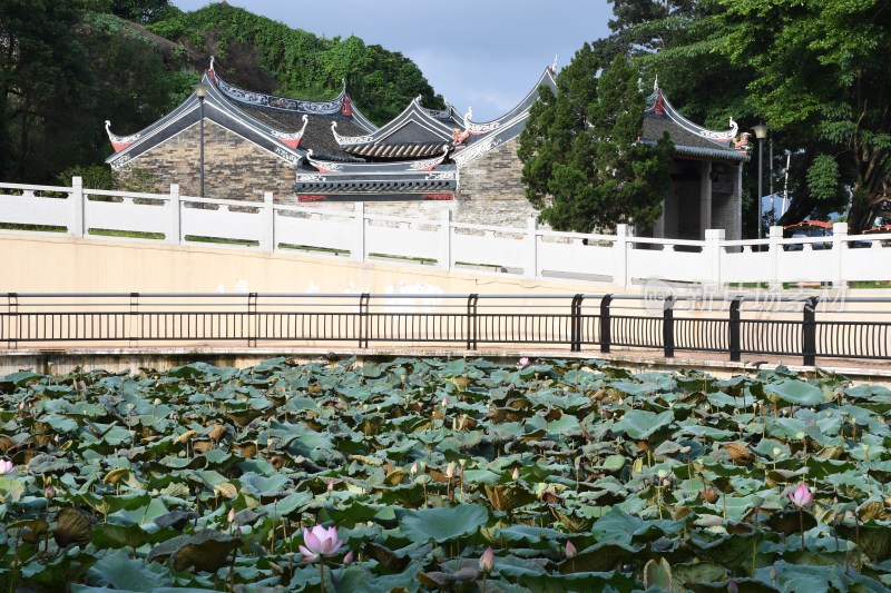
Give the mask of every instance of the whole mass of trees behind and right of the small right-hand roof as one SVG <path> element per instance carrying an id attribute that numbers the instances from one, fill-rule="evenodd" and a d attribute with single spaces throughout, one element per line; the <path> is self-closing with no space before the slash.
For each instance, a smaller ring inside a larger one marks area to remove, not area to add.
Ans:
<path id="1" fill-rule="evenodd" d="M 889 201 L 891 6 L 883 0 L 613 0 L 613 34 L 687 117 L 770 126 L 776 185 L 791 151 L 792 201 L 780 220 L 844 209 L 853 231 Z M 754 219 L 757 167 L 744 178 Z M 751 208 L 751 209 L 750 209 Z"/>

